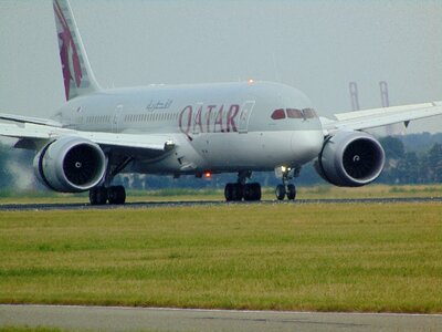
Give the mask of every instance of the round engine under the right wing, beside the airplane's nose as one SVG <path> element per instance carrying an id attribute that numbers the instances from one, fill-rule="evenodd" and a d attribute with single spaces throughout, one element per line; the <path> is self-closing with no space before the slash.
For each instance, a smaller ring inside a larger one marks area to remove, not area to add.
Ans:
<path id="1" fill-rule="evenodd" d="M 383 148 L 372 136 L 361 132 L 339 132 L 324 143 L 315 168 L 335 186 L 360 187 L 373 181 L 385 163 Z"/>

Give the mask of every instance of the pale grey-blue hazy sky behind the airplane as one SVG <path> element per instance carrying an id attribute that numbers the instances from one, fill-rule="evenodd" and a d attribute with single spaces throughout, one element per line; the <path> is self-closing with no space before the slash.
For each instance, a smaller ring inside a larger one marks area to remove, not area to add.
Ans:
<path id="1" fill-rule="evenodd" d="M 71 0 L 103 87 L 276 81 L 323 116 L 442 100 L 442 1 Z M 64 103 L 51 0 L 0 0 L 0 112 L 50 116 Z M 410 132 L 442 132 L 442 117 Z"/>

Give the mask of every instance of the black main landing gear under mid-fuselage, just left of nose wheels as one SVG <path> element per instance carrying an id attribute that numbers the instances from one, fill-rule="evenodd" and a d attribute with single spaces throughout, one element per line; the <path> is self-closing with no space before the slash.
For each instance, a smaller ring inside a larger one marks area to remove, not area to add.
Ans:
<path id="1" fill-rule="evenodd" d="M 246 184 L 246 179 L 252 175 L 251 172 L 240 172 L 235 184 L 227 184 L 224 197 L 227 201 L 260 200 L 261 185 L 257 183 Z"/>

